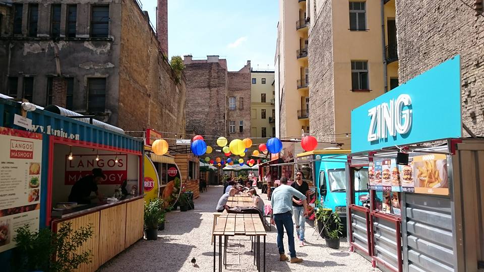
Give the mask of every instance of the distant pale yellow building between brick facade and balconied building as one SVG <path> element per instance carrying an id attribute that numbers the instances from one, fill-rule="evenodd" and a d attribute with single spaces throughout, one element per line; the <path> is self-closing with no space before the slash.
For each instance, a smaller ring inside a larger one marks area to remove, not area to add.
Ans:
<path id="1" fill-rule="evenodd" d="M 274 71 L 252 71 L 251 78 L 251 138 L 265 143 L 257 138 L 276 137 Z"/>

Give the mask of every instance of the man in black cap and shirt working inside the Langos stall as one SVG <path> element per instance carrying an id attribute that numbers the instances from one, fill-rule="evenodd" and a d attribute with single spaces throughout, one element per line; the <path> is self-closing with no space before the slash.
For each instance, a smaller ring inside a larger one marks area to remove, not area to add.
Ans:
<path id="1" fill-rule="evenodd" d="M 92 175 L 81 178 L 72 186 L 69 201 L 78 202 L 79 204 L 90 204 L 91 192 L 96 193 L 97 198 L 102 199 L 102 194 L 98 192 L 97 184 L 101 182 L 103 177 L 104 174 L 101 168 L 92 169 Z"/>

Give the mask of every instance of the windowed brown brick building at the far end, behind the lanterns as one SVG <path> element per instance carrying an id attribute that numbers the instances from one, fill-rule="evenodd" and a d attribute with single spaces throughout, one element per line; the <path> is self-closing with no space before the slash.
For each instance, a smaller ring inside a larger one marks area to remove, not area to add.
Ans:
<path id="1" fill-rule="evenodd" d="M 184 62 L 187 133 L 250 137 L 250 61 L 237 72 L 228 72 L 227 60 L 219 56 L 194 60 L 191 55 L 186 55 Z"/>

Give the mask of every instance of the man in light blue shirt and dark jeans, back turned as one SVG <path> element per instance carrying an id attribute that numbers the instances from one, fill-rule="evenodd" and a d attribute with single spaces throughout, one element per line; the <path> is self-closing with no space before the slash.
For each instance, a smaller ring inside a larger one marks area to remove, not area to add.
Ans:
<path id="1" fill-rule="evenodd" d="M 281 185 L 274 189 L 271 197 L 272 224 L 277 228 L 277 248 L 279 249 L 279 260 L 286 261 L 287 256 L 284 254 L 284 244 L 282 238 L 284 237 L 284 228 L 286 229 L 287 239 L 289 242 L 289 253 L 291 255 L 291 263 L 302 262 L 302 259 L 296 257 L 296 249 L 294 248 L 294 226 L 292 223 L 292 197 L 297 196 L 302 201 L 304 206 L 304 216 L 308 215 L 308 203 L 306 196 L 298 190 L 287 185 L 287 178 L 282 177 Z"/>

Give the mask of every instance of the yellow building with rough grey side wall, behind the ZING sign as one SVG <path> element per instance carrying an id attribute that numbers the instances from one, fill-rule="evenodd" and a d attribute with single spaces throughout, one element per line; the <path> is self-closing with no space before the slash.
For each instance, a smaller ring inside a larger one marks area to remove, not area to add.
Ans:
<path id="1" fill-rule="evenodd" d="M 349 149 L 351 110 L 398 86 L 395 2 L 313 0 L 308 10 L 311 134 Z"/>

